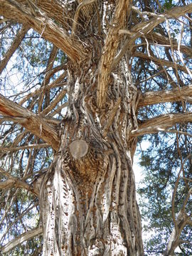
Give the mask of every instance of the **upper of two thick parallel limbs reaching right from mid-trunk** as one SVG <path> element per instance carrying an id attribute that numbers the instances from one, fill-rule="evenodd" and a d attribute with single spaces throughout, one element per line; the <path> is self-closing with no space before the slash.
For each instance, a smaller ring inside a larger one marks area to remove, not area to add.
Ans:
<path id="1" fill-rule="evenodd" d="M 145 107 L 164 102 L 174 102 L 186 100 L 192 102 L 192 85 L 178 87 L 174 90 L 159 90 L 156 92 L 146 92 L 140 97 L 138 107 Z M 191 103 L 190 102 L 190 103 Z"/>

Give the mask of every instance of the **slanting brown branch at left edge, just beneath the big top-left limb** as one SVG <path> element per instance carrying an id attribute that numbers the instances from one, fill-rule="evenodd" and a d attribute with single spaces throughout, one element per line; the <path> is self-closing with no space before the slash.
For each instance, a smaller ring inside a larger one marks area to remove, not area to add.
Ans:
<path id="1" fill-rule="evenodd" d="M 4 68 L 6 67 L 6 64 L 10 60 L 11 56 L 14 54 L 14 52 L 20 45 L 27 31 L 28 31 L 28 28 L 26 26 L 23 26 L 21 28 L 21 30 L 18 32 L 18 35 L 14 39 L 14 42 L 12 43 L 11 47 L 9 48 L 9 50 L 7 50 L 6 54 L 4 55 L 4 58 L 2 58 L 2 60 L 0 61 L 0 75 L 4 70 Z"/>

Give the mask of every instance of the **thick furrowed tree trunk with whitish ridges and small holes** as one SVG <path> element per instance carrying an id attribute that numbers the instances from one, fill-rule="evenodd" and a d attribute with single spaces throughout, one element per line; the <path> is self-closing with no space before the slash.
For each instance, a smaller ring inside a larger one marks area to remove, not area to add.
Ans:
<path id="1" fill-rule="evenodd" d="M 130 137 L 137 89 L 124 59 L 96 105 L 97 68 L 69 69 L 60 150 L 43 179 L 43 255 L 144 255 Z"/>

